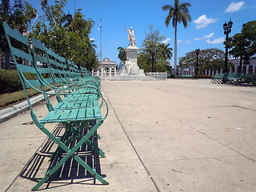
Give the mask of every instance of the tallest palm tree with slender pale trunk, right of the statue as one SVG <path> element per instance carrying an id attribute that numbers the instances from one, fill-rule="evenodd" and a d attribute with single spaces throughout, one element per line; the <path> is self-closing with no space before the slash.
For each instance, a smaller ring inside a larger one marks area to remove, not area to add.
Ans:
<path id="1" fill-rule="evenodd" d="M 176 74 L 177 65 L 177 23 L 183 23 L 186 29 L 187 22 L 191 22 L 191 16 L 188 7 L 191 4 L 189 2 L 179 3 L 179 0 L 174 0 L 174 6 L 166 5 L 162 7 L 162 10 L 169 10 L 169 14 L 166 17 L 166 26 L 169 26 L 170 19 L 173 19 L 173 26 L 175 29 L 175 42 L 174 42 L 174 70 Z"/>

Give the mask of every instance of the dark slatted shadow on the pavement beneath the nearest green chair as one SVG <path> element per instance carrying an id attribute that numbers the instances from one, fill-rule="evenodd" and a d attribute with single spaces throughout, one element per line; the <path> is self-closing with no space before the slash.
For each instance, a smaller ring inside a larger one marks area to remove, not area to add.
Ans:
<path id="1" fill-rule="evenodd" d="M 65 126 L 58 124 L 58 126 L 54 127 L 53 134 L 55 137 L 60 138 L 63 131 L 65 131 Z M 78 142 L 78 140 L 71 142 L 69 148 L 72 148 L 76 142 Z M 98 138 L 96 137 L 94 137 L 94 145 L 98 146 Z M 22 169 L 19 176 L 34 181 L 34 185 L 36 185 L 36 183 L 45 176 L 47 170 L 50 169 L 50 155 L 53 154 L 56 149 L 57 145 L 50 138 L 46 139 L 30 158 L 29 162 L 26 163 L 26 166 Z M 99 175 L 102 175 L 99 155 L 92 151 L 89 146 L 86 144 L 82 145 L 75 154 L 78 154 L 78 157 L 82 158 L 88 166 L 96 170 Z M 56 163 L 58 163 L 65 155 L 66 153 L 58 155 Z M 106 175 L 103 174 L 102 178 L 106 178 Z M 66 186 L 73 183 L 83 185 L 102 185 L 96 184 L 96 179 L 81 165 L 79 165 L 74 158 L 69 158 L 46 182 L 47 186 L 45 188 L 41 187 L 39 190 Z"/>

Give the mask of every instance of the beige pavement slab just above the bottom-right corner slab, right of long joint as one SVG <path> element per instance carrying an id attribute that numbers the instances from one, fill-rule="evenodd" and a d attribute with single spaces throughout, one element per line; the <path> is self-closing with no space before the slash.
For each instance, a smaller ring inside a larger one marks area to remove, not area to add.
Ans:
<path id="1" fill-rule="evenodd" d="M 130 133 L 143 162 L 236 156 L 238 153 L 196 130 Z"/>

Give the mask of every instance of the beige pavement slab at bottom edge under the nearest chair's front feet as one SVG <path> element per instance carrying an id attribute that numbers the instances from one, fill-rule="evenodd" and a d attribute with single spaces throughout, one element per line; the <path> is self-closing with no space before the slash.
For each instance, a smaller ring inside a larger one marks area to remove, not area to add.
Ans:
<path id="1" fill-rule="evenodd" d="M 102 185 L 93 178 L 73 178 L 50 181 L 43 184 L 39 189 L 50 191 L 157 191 L 149 175 L 140 162 L 123 163 L 118 165 L 103 165 L 102 174 L 106 174 L 106 181 L 109 185 Z M 42 178 L 44 171 L 36 176 L 36 180 Z M 38 181 L 37 181 L 38 182 Z M 37 182 L 31 179 L 18 177 L 9 191 L 30 191 Z"/>

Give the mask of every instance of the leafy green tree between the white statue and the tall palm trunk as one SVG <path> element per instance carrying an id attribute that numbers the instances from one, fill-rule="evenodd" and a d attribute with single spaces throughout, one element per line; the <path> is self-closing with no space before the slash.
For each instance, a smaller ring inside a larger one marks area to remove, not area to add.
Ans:
<path id="1" fill-rule="evenodd" d="M 162 43 L 166 37 L 161 35 L 159 30 L 154 30 L 154 26 L 149 26 L 149 29 L 150 32 L 146 33 L 146 38 L 142 42 L 142 49 L 138 53 L 138 66 L 145 72 L 170 70 L 170 62 L 168 61 L 172 56 L 170 44 Z"/>

